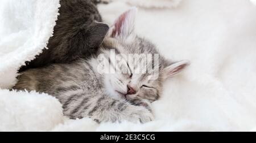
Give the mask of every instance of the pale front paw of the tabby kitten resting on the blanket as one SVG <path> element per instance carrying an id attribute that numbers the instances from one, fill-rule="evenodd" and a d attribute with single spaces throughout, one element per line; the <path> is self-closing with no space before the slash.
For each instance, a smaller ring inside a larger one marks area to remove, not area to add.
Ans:
<path id="1" fill-rule="evenodd" d="M 130 122 L 134 123 L 147 123 L 154 120 L 154 116 L 150 112 L 150 110 L 146 109 L 143 106 L 134 106 L 134 109 L 131 109 L 128 118 Z"/>

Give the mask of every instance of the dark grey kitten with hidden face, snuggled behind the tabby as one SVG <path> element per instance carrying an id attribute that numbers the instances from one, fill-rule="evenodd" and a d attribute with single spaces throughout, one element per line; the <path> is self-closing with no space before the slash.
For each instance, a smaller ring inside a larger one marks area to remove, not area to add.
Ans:
<path id="1" fill-rule="evenodd" d="M 20 71 L 43 67 L 51 63 L 69 63 L 78 57 L 88 58 L 95 54 L 109 30 L 101 23 L 101 15 L 92 0 L 61 0 L 53 37 L 48 49 L 31 62 L 26 62 Z M 99 1 L 100 2 L 100 1 Z"/>

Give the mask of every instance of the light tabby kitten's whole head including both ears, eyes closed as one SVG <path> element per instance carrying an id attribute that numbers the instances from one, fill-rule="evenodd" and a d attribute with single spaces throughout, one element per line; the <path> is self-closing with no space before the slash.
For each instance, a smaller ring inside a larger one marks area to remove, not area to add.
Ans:
<path id="1" fill-rule="evenodd" d="M 154 102 L 160 98 L 164 80 L 181 72 L 189 62 L 170 62 L 159 55 L 154 44 L 138 37 L 134 33 L 136 14 L 137 8 L 131 8 L 110 28 L 105 48 L 114 50 L 112 54 L 105 50 L 112 70 L 105 74 L 105 86 L 113 97 Z"/>

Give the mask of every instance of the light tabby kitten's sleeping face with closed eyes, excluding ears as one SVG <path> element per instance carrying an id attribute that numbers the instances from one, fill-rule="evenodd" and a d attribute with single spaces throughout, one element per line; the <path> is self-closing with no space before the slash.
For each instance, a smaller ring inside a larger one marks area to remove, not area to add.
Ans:
<path id="1" fill-rule="evenodd" d="M 128 51 L 129 52 L 129 51 Z M 116 57 L 121 57 L 116 55 Z M 133 60 L 132 62 L 126 58 L 115 60 L 115 72 L 105 74 L 105 86 L 109 95 L 115 98 L 124 98 L 129 101 L 134 99 L 146 99 L 154 102 L 159 99 L 162 90 L 162 81 L 155 69 L 145 70 L 147 65 L 142 65 L 142 60 Z M 113 61 L 111 61 L 114 63 Z M 148 60 L 149 62 L 149 60 Z M 113 64 L 110 64 L 113 68 Z M 114 69 L 114 68 L 113 68 Z M 143 72 L 144 71 L 144 72 Z"/>

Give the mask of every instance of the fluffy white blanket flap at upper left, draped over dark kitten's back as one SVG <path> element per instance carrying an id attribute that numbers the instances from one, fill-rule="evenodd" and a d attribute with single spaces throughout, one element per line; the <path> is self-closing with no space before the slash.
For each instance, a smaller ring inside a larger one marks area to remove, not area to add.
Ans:
<path id="1" fill-rule="evenodd" d="M 59 0 L 0 2 L 0 88 L 13 86 L 19 67 L 46 47 L 59 7 Z"/>

